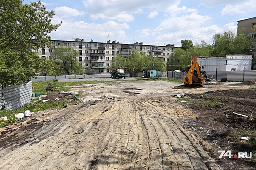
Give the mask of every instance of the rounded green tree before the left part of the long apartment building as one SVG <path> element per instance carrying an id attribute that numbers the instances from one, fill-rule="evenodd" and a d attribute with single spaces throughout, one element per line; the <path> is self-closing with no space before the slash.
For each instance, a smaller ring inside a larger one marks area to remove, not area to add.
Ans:
<path id="1" fill-rule="evenodd" d="M 80 74 L 82 66 L 78 61 L 79 52 L 71 46 L 58 46 L 54 49 L 51 60 L 68 75 Z"/>

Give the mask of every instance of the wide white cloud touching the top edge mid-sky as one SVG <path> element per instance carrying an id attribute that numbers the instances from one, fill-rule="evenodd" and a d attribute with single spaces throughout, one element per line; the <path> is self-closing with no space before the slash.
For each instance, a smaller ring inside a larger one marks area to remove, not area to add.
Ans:
<path id="1" fill-rule="evenodd" d="M 176 11 L 180 10 L 177 5 L 180 0 L 83 0 L 86 12 L 91 19 L 108 19 L 123 21 L 123 18 L 128 19 L 126 22 L 134 20 L 133 14 L 147 13 L 150 11 Z M 154 17 L 153 14 L 149 15 Z M 120 19 L 121 18 L 121 19 Z"/>

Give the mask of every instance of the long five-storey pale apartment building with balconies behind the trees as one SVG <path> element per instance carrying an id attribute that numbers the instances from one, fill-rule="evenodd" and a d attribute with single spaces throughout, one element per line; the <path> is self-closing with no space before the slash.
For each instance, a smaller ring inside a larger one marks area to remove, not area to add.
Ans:
<path id="1" fill-rule="evenodd" d="M 94 69 L 96 74 L 109 73 L 112 58 L 116 54 L 129 57 L 132 49 L 139 49 L 144 54 L 151 57 L 159 57 L 165 64 L 169 60 L 169 56 L 173 55 L 174 44 L 165 46 L 143 45 L 142 42 L 134 44 L 121 44 L 119 41 L 94 42 L 84 41 L 84 39 L 76 38 L 75 41 L 52 40 L 50 48 L 45 47 L 36 51 L 40 57 L 48 57 L 53 55 L 54 48 L 60 45 L 72 46 L 79 51 L 78 60 L 83 69 Z"/>

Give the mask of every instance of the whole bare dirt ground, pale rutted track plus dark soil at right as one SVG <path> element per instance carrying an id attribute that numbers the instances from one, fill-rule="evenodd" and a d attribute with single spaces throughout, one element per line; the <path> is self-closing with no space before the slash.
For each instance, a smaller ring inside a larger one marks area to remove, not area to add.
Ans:
<path id="1" fill-rule="evenodd" d="M 83 103 L 39 111 L 0 129 L 0 169 L 254 170 L 254 164 L 243 160 L 219 159 L 217 150 L 232 149 L 220 137 L 228 128 L 256 128 L 247 119 L 239 117 L 237 123 L 225 116 L 251 116 L 255 87 L 184 88 L 181 83 L 129 79 L 75 85 L 71 91 L 82 90 Z M 221 104 L 175 102 L 181 93 L 191 100 L 217 98 Z"/>

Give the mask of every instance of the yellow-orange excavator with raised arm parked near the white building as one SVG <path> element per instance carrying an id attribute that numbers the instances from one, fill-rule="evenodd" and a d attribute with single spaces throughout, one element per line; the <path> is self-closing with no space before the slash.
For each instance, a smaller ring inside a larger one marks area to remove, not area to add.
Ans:
<path id="1" fill-rule="evenodd" d="M 191 57 L 191 65 L 186 68 L 187 74 L 183 78 L 185 87 L 190 85 L 202 87 L 204 85 L 204 79 L 201 74 L 201 67 L 197 62 L 197 57 Z"/>

